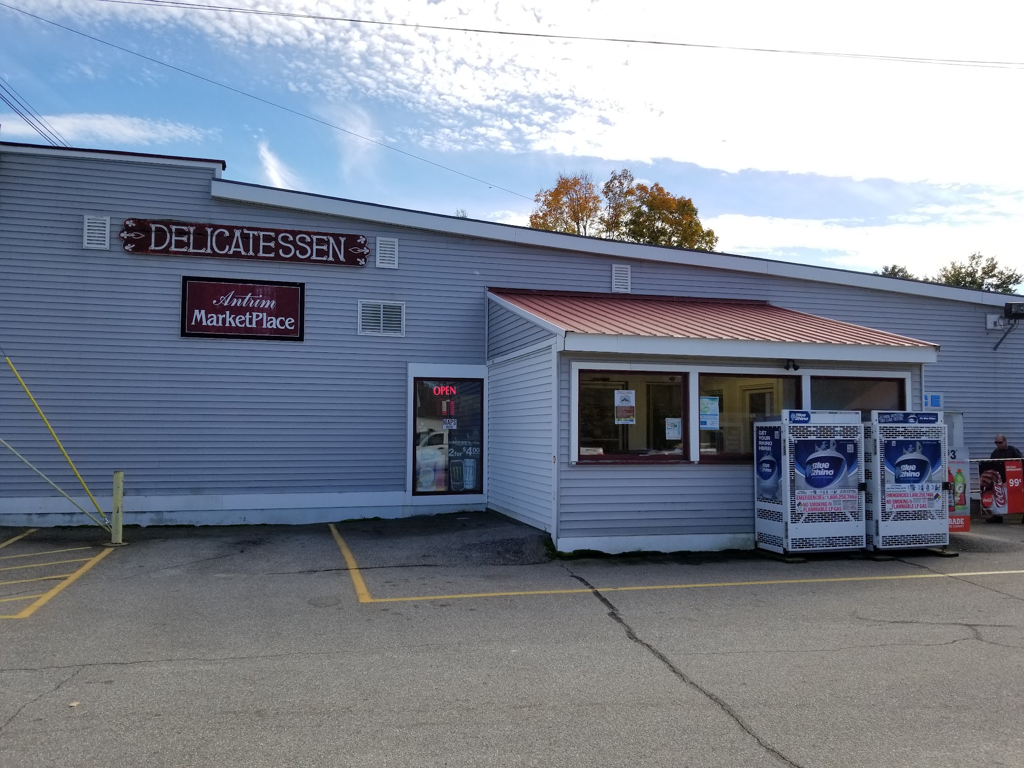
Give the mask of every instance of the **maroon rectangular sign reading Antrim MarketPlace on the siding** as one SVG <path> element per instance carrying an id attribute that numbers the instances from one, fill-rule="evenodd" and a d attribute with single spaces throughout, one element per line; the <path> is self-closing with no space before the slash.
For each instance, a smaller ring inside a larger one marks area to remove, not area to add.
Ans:
<path id="1" fill-rule="evenodd" d="M 302 341 L 306 288 L 222 278 L 181 279 L 181 335 Z"/>

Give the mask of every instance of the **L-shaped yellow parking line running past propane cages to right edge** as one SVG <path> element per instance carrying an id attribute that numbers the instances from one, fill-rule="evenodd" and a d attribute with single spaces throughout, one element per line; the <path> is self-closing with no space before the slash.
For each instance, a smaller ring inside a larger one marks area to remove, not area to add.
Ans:
<path id="1" fill-rule="evenodd" d="M 525 595 L 580 595 L 590 593 L 589 589 L 567 589 L 567 590 L 522 590 L 517 592 L 474 592 L 462 595 L 424 595 L 417 597 L 373 597 L 367 589 L 359 566 L 352 556 L 351 550 L 338 534 L 334 524 L 330 524 L 331 532 L 338 549 L 341 550 L 345 564 L 348 566 L 348 574 L 352 579 L 352 586 L 355 588 L 355 595 L 360 603 L 397 603 L 412 602 L 415 600 L 458 600 L 470 597 L 519 597 Z M 902 573 L 898 575 L 871 575 L 871 577 L 823 577 L 820 579 L 771 579 L 758 582 L 698 582 L 696 584 L 656 584 L 643 587 L 597 587 L 598 592 L 639 592 L 649 590 L 682 590 L 699 589 L 707 587 L 763 587 L 775 584 L 826 584 L 829 582 L 888 582 L 905 579 L 956 579 L 963 577 L 980 575 L 1008 575 L 1024 573 L 1021 570 L 972 570 L 957 573 Z"/>

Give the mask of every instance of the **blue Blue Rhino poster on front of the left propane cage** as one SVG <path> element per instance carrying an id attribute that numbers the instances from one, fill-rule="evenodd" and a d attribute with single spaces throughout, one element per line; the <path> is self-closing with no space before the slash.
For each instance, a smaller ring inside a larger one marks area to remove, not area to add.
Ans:
<path id="1" fill-rule="evenodd" d="M 857 441 L 795 440 L 794 502 L 799 515 L 857 512 Z"/>

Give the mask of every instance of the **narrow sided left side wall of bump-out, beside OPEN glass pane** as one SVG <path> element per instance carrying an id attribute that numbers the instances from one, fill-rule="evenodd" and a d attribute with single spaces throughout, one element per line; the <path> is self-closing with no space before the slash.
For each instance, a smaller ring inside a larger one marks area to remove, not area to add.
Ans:
<path id="1" fill-rule="evenodd" d="M 555 358 L 551 345 L 487 367 L 487 506 L 554 525 Z"/>

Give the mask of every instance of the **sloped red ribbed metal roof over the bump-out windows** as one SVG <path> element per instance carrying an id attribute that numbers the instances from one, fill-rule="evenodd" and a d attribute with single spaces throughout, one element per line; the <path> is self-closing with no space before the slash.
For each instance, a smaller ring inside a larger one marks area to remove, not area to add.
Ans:
<path id="1" fill-rule="evenodd" d="M 568 333 L 888 347 L 938 345 L 766 301 L 488 289 Z"/>

